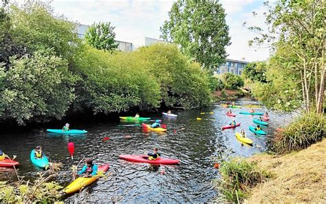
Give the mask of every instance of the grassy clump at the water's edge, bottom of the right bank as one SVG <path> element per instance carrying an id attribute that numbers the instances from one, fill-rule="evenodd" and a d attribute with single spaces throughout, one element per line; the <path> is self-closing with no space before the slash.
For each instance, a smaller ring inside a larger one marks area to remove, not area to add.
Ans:
<path id="1" fill-rule="evenodd" d="M 224 199 L 232 203 L 240 203 L 248 195 L 248 187 L 254 187 L 272 175 L 259 170 L 256 163 L 244 159 L 223 161 L 219 168 L 221 178 L 218 181 L 219 190 Z"/>

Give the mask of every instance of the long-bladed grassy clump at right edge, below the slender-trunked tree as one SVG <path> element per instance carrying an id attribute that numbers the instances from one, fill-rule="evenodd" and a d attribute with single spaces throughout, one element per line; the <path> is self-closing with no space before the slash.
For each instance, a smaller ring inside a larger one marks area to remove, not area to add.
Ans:
<path id="1" fill-rule="evenodd" d="M 326 117 L 314 112 L 303 114 L 282 131 L 276 132 L 275 136 L 277 152 L 302 150 L 326 136 Z"/>

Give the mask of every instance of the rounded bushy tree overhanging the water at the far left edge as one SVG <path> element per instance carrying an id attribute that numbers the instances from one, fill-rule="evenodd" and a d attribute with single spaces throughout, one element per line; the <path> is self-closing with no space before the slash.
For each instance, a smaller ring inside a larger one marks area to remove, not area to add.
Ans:
<path id="1" fill-rule="evenodd" d="M 0 70 L 0 118 L 19 125 L 61 119 L 74 100 L 75 81 L 67 61 L 49 50 L 12 58 L 10 69 Z"/>

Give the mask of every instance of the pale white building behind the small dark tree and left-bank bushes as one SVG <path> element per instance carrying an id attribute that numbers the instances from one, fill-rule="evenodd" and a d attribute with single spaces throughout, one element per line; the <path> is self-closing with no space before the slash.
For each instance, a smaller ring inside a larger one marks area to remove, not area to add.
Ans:
<path id="1" fill-rule="evenodd" d="M 87 25 L 83 25 L 79 23 L 77 24 L 76 32 L 80 39 L 83 39 L 85 37 L 85 32 L 87 31 L 88 28 L 89 26 Z M 157 42 L 164 42 L 160 39 L 153 39 L 150 37 L 136 37 L 136 38 L 131 38 L 129 40 L 131 41 L 131 43 L 116 40 L 116 43 L 118 44 L 118 50 L 123 52 L 128 52 L 128 51 L 135 50 L 141 46 L 151 45 Z"/>

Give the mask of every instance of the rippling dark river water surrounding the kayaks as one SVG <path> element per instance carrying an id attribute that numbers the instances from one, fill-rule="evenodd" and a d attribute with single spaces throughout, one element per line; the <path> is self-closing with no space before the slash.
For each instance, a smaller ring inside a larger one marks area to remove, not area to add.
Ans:
<path id="1" fill-rule="evenodd" d="M 248 103 L 248 101 L 241 101 Z M 30 151 L 36 145 L 42 145 L 43 151 L 52 162 L 63 163 L 61 172 L 65 175 L 57 178 L 65 186 L 72 181 L 69 176 L 72 165 L 76 165 L 83 156 L 91 157 L 96 164 L 110 163 L 109 176 L 100 179 L 96 184 L 87 187 L 78 194 L 65 197 L 65 202 L 98 202 L 98 203 L 207 203 L 213 201 L 218 192 L 211 181 L 218 177 L 213 167 L 213 156 L 250 156 L 268 149 L 270 136 L 254 136 L 248 130 L 252 118 L 239 114 L 249 108 L 233 109 L 237 114 L 236 121 L 241 126 L 236 130 L 221 130 L 221 127 L 232 121 L 226 116 L 226 108 L 218 105 L 201 110 L 174 112 L 176 119 L 162 117 L 161 114 L 146 115 L 152 119 L 162 119 L 168 127 L 166 134 L 143 132 L 137 126 L 121 127 L 131 123 L 122 123 L 118 119 L 110 122 L 79 123 L 67 121 L 72 129 L 85 129 L 83 135 L 48 134 L 43 128 L 31 132 L 10 133 L 0 136 L 0 148 L 9 155 L 17 155 L 19 174 L 25 178 L 34 178 L 36 169 L 30 163 Z M 265 112 L 265 108 L 255 108 Z M 211 112 L 214 114 L 200 114 Z M 287 123 L 290 115 L 269 112 L 270 125 L 263 128 L 272 133 L 274 128 Z M 143 116 L 143 115 L 142 115 Z M 213 119 L 197 121 L 196 118 Z M 62 128 L 63 124 L 56 127 Z M 185 130 L 180 130 L 185 128 Z M 243 145 L 235 138 L 235 132 L 246 130 L 247 136 L 254 145 Z M 174 130 L 177 131 L 173 134 Z M 125 136 L 131 136 L 125 139 Z M 107 136 L 110 139 L 104 141 Z M 67 143 L 74 142 L 74 160 L 69 156 Z M 162 156 L 180 159 L 180 165 L 161 165 L 158 170 L 146 163 L 131 163 L 118 158 L 119 154 L 143 154 L 157 147 Z M 80 165 L 81 167 L 81 165 Z M 12 170 L 0 168 L 0 180 L 14 180 Z"/>

